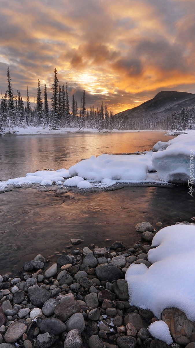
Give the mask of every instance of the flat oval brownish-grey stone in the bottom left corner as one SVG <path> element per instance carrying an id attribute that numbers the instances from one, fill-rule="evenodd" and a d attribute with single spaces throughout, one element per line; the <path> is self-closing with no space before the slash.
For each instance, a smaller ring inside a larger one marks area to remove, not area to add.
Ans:
<path id="1" fill-rule="evenodd" d="M 27 324 L 24 322 L 15 322 L 11 324 L 5 333 L 4 340 L 7 343 L 16 342 L 26 332 L 27 327 Z"/>

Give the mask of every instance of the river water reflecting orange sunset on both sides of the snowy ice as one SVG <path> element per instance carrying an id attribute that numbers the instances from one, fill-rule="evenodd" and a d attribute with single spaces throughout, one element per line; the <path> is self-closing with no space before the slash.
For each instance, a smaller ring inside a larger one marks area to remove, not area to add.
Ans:
<path id="1" fill-rule="evenodd" d="M 68 169 L 82 158 L 102 153 L 152 149 L 172 136 L 163 132 L 65 134 L 0 137 L 0 179 L 25 176 L 37 169 Z M 38 253 L 55 261 L 71 238 L 79 247 L 110 246 L 122 240 L 132 246 L 141 239 L 135 224 L 149 221 L 162 227 L 190 221 L 194 198 L 187 187 L 125 187 L 100 193 L 55 193 L 16 188 L 0 195 L 0 274 L 19 270 Z M 110 239 L 105 242 L 105 239 Z M 71 247 L 70 251 L 74 247 Z"/>

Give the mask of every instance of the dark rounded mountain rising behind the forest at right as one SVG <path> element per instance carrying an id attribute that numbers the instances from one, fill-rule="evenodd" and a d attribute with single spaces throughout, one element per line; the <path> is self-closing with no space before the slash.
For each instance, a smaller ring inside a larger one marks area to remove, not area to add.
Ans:
<path id="1" fill-rule="evenodd" d="M 147 102 L 136 106 L 133 109 L 128 109 L 115 114 L 115 117 L 123 116 L 130 119 L 138 119 L 146 116 L 152 118 L 164 118 L 169 116 L 174 111 L 188 106 L 195 105 L 195 94 L 187 92 L 162 91 Z"/>

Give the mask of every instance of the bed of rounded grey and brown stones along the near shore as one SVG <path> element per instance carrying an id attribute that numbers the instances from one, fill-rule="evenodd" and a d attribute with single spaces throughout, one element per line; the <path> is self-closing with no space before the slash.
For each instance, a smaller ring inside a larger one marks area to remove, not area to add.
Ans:
<path id="1" fill-rule="evenodd" d="M 158 223 L 157 226 L 161 226 Z M 110 247 L 71 239 L 57 263 L 39 254 L 17 274 L 0 276 L 0 348 L 195 348 L 195 323 L 176 308 L 162 320 L 174 343 L 151 337 L 147 328 L 158 319 L 129 304 L 125 273 L 132 263 L 151 263 L 154 228 L 136 225 L 141 240 Z"/>

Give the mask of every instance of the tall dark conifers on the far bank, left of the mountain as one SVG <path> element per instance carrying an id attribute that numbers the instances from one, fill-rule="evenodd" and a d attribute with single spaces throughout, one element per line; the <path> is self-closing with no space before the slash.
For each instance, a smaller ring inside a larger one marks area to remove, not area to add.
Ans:
<path id="1" fill-rule="evenodd" d="M 113 113 L 107 110 L 107 105 L 100 109 L 90 106 L 86 108 L 86 93 L 83 90 L 80 103 L 78 105 L 76 96 L 72 95 L 70 105 L 68 95 L 68 83 L 60 84 L 58 80 L 57 69 L 54 69 L 53 84 L 51 87 L 51 108 L 48 104 L 48 92 L 46 84 L 42 93 L 40 80 L 37 84 L 37 97 L 34 99 L 34 108 L 31 108 L 29 99 L 28 86 L 26 102 L 23 101 L 21 93 L 17 90 L 14 95 L 9 68 L 7 69 L 8 86 L 5 94 L 1 92 L 0 103 L 0 131 L 6 127 L 39 127 L 49 126 L 50 129 L 57 127 L 69 128 L 97 128 L 113 129 L 117 126 L 114 124 Z"/>

